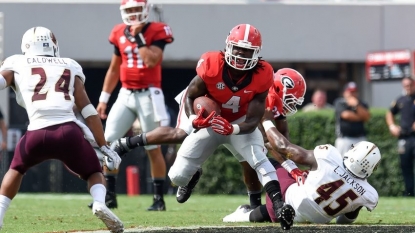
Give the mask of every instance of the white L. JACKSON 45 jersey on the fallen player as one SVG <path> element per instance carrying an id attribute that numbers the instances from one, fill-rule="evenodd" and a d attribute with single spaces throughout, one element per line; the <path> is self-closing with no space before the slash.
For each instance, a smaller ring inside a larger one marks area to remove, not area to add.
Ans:
<path id="1" fill-rule="evenodd" d="M 318 168 L 310 171 L 304 185 L 291 185 L 285 194 L 286 203 L 296 210 L 294 221 L 328 223 L 339 215 L 360 206 L 372 211 L 378 193 L 366 181 L 354 177 L 343 167 L 343 158 L 332 145 L 314 149 Z"/>

